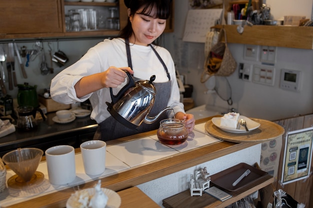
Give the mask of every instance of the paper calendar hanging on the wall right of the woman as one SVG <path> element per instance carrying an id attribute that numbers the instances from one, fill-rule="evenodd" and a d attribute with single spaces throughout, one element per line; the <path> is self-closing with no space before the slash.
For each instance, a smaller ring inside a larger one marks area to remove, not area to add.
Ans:
<path id="1" fill-rule="evenodd" d="M 221 19 L 221 15 L 221 8 L 189 9 L 182 40 L 204 43 L 206 33 L 216 20 Z"/>

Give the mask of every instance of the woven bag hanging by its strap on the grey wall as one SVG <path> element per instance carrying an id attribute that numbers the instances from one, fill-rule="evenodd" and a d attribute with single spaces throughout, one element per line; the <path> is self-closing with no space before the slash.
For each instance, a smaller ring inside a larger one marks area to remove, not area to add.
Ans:
<path id="1" fill-rule="evenodd" d="M 224 42 L 221 41 L 224 35 Z M 211 47 L 204 61 L 204 70 L 201 74 L 201 82 L 205 82 L 210 76 L 229 76 L 237 67 L 237 63 L 227 46 L 226 31 L 222 28 L 218 34 L 218 42 Z"/>

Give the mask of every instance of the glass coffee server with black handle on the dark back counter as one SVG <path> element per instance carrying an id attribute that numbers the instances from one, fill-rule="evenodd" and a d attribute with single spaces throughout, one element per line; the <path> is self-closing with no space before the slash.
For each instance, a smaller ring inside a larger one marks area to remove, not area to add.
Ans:
<path id="1" fill-rule="evenodd" d="M 20 130 L 29 131 L 37 127 L 36 112 L 39 111 L 42 119 L 45 120 L 40 108 L 34 109 L 32 106 L 17 107 L 18 119 L 16 127 Z"/>

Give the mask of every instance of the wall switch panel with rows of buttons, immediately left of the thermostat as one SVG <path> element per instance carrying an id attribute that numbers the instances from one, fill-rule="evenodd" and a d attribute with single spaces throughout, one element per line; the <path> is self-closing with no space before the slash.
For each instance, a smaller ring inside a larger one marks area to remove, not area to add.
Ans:
<path id="1" fill-rule="evenodd" d="M 273 66 L 253 65 L 252 82 L 274 85 L 275 68 Z"/>

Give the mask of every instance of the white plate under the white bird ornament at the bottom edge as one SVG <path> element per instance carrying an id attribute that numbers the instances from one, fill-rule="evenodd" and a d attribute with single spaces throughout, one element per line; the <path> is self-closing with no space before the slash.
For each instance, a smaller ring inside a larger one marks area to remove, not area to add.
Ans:
<path id="1" fill-rule="evenodd" d="M 84 190 L 86 190 L 89 193 L 89 196 L 94 195 L 94 188 Z M 105 208 L 119 208 L 121 204 L 119 195 L 110 189 L 101 188 L 101 190 L 108 198 Z M 77 191 L 67 200 L 66 208 L 78 208 L 77 206 L 75 207 L 75 204 L 77 204 L 76 201 L 77 199 L 79 199 L 79 192 L 81 191 L 83 190 Z"/>

